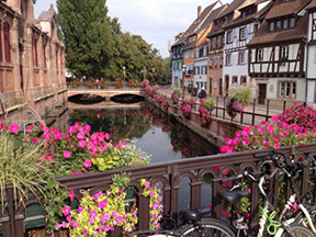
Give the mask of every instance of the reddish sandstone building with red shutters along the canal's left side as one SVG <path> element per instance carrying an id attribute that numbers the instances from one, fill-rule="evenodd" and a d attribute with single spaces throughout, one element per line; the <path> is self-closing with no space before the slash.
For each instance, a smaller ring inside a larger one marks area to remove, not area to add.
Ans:
<path id="1" fill-rule="evenodd" d="M 67 102 L 65 46 L 53 8 L 34 18 L 33 0 L 0 2 L 1 113 L 13 117 L 26 104 L 47 114 Z M 20 117 L 21 119 L 21 117 Z"/>

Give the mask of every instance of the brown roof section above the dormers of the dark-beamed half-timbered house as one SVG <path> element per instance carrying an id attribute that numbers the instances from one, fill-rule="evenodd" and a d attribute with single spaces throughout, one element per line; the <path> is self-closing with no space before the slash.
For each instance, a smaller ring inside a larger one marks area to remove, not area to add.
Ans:
<path id="1" fill-rule="evenodd" d="M 270 20 L 281 18 L 284 15 L 296 14 L 309 2 L 311 0 L 292 0 L 292 1 L 276 0 L 272 9 L 267 14 L 266 19 Z"/>

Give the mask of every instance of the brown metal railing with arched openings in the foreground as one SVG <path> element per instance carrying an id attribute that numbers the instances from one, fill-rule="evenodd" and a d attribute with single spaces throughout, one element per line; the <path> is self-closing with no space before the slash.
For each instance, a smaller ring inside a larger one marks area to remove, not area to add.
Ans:
<path id="1" fill-rule="evenodd" d="M 180 182 L 184 178 L 190 180 L 190 207 L 195 208 L 201 205 L 202 195 L 212 196 L 213 216 L 221 217 L 221 211 L 223 210 L 222 201 L 216 198 L 216 192 L 224 187 L 221 184 L 225 170 L 229 170 L 229 174 L 237 174 L 242 170 L 251 170 L 256 176 L 261 173 L 262 160 L 253 158 L 255 154 L 267 153 L 268 150 L 251 150 L 235 154 L 225 154 L 207 157 L 199 157 L 192 159 L 184 159 L 180 161 L 170 161 L 163 163 L 155 163 L 146 167 L 127 168 L 120 170 L 109 170 L 105 172 L 92 172 L 79 176 L 63 177 L 57 180 L 67 187 L 68 190 L 75 191 L 75 199 L 80 201 L 82 198 L 82 190 L 90 190 L 90 194 L 93 195 L 99 191 L 105 191 L 112 180 L 111 176 L 121 172 L 131 172 L 132 183 L 131 187 L 137 187 L 137 206 L 139 210 L 139 222 L 138 229 L 149 228 L 149 199 L 143 195 L 142 188 L 138 184 L 138 179 L 147 178 L 151 182 L 159 182 L 163 190 L 163 205 L 165 213 L 170 210 L 178 212 L 178 204 L 183 199 L 179 196 Z M 281 147 L 280 151 L 285 155 L 293 154 L 293 147 Z M 305 156 L 304 153 L 311 153 L 316 155 L 316 143 L 308 144 L 306 146 L 295 147 L 295 157 L 298 159 L 301 156 Z M 215 169 L 217 167 L 217 169 Z M 202 184 L 205 176 L 211 176 L 211 193 L 202 193 Z M 307 180 L 315 180 L 315 173 L 309 172 L 308 168 L 305 168 L 295 183 L 300 185 L 301 193 L 305 193 L 311 187 Z M 280 196 L 280 189 L 282 189 L 279 182 L 279 174 L 275 180 L 270 182 L 270 189 L 275 195 L 275 200 L 289 198 L 291 195 L 291 189 L 289 183 L 285 183 L 285 190 L 282 196 Z M 251 227 L 256 228 L 258 224 L 258 211 L 259 211 L 259 190 L 257 183 L 251 183 L 251 203 L 250 203 L 250 221 Z M 312 188 L 314 199 L 316 198 L 315 185 Z M 19 206 L 16 210 L 13 208 L 13 191 L 8 188 L 4 195 L 5 204 L 9 204 L 9 208 L 0 212 L 0 223 L 2 225 L 3 237 L 22 237 L 24 236 L 23 226 L 25 218 L 25 207 Z M 279 196 L 278 196 L 279 195 Z M 26 206 L 38 203 L 34 196 L 29 196 L 25 200 Z M 276 207 L 278 204 L 274 203 Z M 44 213 L 45 215 L 45 213 Z M 120 236 L 121 229 L 115 229 L 111 236 Z M 59 236 L 57 232 L 55 236 Z"/>

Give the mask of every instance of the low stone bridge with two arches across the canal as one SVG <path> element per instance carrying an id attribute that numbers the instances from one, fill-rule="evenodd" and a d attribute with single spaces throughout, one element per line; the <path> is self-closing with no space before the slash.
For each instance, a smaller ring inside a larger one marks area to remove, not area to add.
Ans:
<path id="1" fill-rule="evenodd" d="M 79 94 L 95 94 L 105 98 L 105 101 L 110 101 L 112 97 L 121 94 L 136 94 L 144 95 L 144 90 L 140 88 L 123 88 L 123 89 L 86 89 L 86 88 L 76 88 L 68 90 L 68 98 Z"/>

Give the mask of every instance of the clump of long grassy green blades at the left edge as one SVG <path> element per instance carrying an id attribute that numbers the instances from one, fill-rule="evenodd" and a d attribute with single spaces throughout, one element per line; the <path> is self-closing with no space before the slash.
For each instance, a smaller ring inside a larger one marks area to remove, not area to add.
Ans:
<path id="1" fill-rule="evenodd" d="M 23 140 L 21 135 L 7 131 L 0 133 L 0 190 L 12 185 L 14 200 L 18 195 L 27 199 L 27 193 L 35 196 L 44 194 L 45 177 L 50 174 L 47 163 L 40 162 L 43 154 L 41 145 L 26 146 Z M 21 201 L 24 202 L 23 199 Z M 4 195 L 1 194 L 3 204 Z"/>

